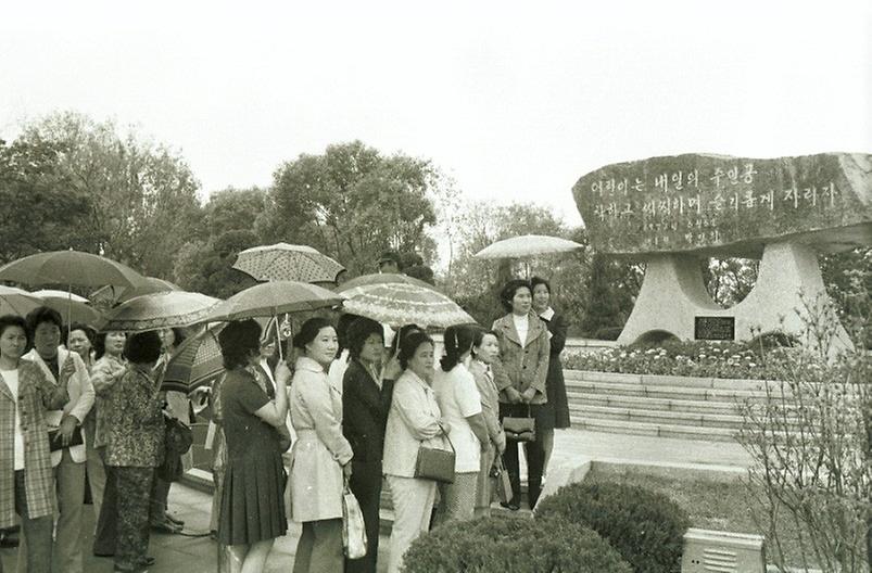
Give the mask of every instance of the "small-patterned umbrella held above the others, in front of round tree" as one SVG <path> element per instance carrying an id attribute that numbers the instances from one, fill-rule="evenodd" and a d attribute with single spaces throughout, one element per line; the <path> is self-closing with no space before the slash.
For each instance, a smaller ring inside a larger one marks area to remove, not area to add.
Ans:
<path id="1" fill-rule="evenodd" d="M 247 249 L 233 268 L 258 281 L 334 282 L 345 267 L 308 245 L 276 243 Z"/>

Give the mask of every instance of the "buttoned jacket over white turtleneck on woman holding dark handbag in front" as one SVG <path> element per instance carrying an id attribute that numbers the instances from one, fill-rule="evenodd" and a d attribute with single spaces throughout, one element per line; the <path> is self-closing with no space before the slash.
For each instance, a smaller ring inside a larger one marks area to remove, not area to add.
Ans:
<path id="1" fill-rule="evenodd" d="M 532 310 L 528 319 L 530 327 L 523 345 L 511 314 L 494 320 L 493 331 L 500 341 L 500 358 L 494 360 L 491 367 L 494 382 L 500 390 L 500 402 L 508 402 L 505 390 L 509 386 L 514 386 L 518 392 L 534 387 L 536 393 L 530 404 L 547 402 L 546 380 L 551 354 L 548 329 Z"/>

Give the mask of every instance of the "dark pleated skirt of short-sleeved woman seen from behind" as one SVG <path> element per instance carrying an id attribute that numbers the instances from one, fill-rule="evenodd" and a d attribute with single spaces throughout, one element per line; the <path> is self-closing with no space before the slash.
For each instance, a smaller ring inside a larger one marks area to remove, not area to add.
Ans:
<path id="1" fill-rule="evenodd" d="M 286 482 L 278 453 L 228 460 L 218 540 L 224 545 L 251 545 L 285 535 L 288 531 Z"/>

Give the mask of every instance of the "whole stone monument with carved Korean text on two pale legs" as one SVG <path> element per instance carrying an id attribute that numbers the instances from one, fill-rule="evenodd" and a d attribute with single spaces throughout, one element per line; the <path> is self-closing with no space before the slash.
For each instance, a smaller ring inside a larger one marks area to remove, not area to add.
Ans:
<path id="1" fill-rule="evenodd" d="M 596 169 L 572 192 L 594 249 L 645 263 L 624 344 L 799 334 L 808 302 L 825 303 L 818 254 L 872 244 L 868 154 L 652 157 Z M 700 258 L 710 256 L 760 259 L 754 290 L 732 308 L 706 291 Z M 851 345 L 841 326 L 835 339 Z"/>

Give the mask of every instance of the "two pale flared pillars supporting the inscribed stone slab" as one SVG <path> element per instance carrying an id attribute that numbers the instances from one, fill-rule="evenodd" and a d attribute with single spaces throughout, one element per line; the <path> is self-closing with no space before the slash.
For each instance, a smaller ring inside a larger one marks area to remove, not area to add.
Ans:
<path id="1" fill-rule="evenodd" d="M 646 336 L 672 334 L 695 338 L 697 317 L 732 317 L 735 340 L 780 331 L 806 344 L 809 322 L 820 321 L 829 310 L 818 254 L 809 245 L 770 243 L 763 247 L 757 284 L 744 301 L 731 308 L 715 303 L 706 291 L 699 257 L 658 254 L 646 259 L 645 279 L 633 311 L 618 338 L 631 344 Z M 830 351 L 852 348 L 850 338 L 835 316 L 830 320 Z"/>

